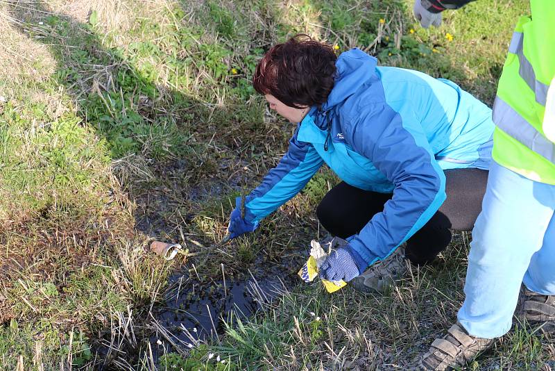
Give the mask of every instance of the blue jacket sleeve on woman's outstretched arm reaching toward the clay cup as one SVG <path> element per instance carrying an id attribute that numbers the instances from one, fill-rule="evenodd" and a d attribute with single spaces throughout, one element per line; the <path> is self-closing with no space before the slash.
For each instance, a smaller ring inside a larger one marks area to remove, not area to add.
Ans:
<path id="1" fill-rule="evenodd" d="M 297 139 L 299 127 L 289 141 L 287 154 L 246 197 L 245 219 L 248 222 L 259 222 L 293 198 L 322 166 L 323 160 L 316 149 Z"/>

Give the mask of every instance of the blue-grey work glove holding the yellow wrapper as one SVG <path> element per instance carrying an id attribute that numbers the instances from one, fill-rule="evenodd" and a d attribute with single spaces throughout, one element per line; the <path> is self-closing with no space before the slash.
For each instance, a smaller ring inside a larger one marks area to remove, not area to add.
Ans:
<path id="1" fill-rule="evenodd" d="M 319 268 L 320 277 L 327 281 L 350 281 L 368 267 L 360 255 L 349 245 L 340 247 L 328 255 Z"/>

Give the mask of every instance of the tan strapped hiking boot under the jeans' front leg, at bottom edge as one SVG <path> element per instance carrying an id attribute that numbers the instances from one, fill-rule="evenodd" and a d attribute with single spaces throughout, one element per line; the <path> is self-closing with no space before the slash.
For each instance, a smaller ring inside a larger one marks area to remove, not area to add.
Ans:
<path id="1" fill-rule="evenodd" d="M 454 324 L 445 336 L 434 340 L 420 359 L 420 370 L 443 371 L 448 367 L 466 365 L 477 354 L 493 345 L 495 339 L 476 338 L 460 324 Z"/>

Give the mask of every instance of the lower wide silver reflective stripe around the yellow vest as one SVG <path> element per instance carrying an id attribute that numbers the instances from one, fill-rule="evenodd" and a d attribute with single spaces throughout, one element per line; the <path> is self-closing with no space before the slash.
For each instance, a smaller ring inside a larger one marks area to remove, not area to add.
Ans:
<path id="1" fill-rule="evenodd" d="M 555 144 L 541 135 L 499 96 L 495 97 L 492 118 L 499 129 L 555 164 Z"/>

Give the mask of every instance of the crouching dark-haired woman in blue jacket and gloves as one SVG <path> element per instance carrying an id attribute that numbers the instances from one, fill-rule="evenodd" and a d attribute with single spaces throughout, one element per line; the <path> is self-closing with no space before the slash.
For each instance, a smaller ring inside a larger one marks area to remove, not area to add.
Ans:
<path id="1" fill-rule="evenodd" d="M 231 238 L 254 231 L 323 163 L 342 181 L 316 215 L 348 240 L 321 266 L 324 279 L 357 277 L 355 288 L 382 290 L 406 269 L 405 256 L 425 264 L 447 247 L 450 228 L 472 229 L 494 125 L 491 110 L 455 83 L 378 67 L 356 48 L 338 58 L 307 35 L 272 47 L 253 83 L 271 109 L 298 124 L 280 163 L 244 202 L 237 197 Z"/>

